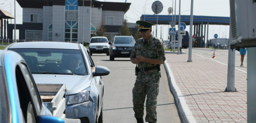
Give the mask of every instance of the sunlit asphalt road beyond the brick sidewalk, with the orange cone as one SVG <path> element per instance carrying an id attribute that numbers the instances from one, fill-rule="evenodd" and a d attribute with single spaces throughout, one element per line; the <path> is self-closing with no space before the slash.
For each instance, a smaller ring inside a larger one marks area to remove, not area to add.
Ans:
<path id="1" fill-rule="evenodd" d="M 182 49 L 183 52 L 186 52 L 188 54 L 188 48 L 187 49 Z M 213 57 L 213 51 L 215 51 L 215 58 Z M 228 50 L 213 50 L 209 48 L 193 48 L 192 49 L 192 54 L 197 54 L 206 58 L 210 58 L 216 61 L 219 61 L 223 64 L 228 64 Z M 192 57 L 193 61 L 193 57 Z M 244 72 L 247 72 L 247 51 L 246 55 L 244 56 L 243 60 L 243 67 L 241 65 L 241 55 L 239 51 L 235 51 L 235 68 L 238 68 Z"/>

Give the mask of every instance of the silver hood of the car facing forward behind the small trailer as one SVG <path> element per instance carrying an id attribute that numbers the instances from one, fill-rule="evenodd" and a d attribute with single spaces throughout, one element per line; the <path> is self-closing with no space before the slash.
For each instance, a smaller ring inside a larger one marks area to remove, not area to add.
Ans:
<path id="1" fill-rule="evenodd" d="M 66 95 L 76 94 L 90 87 L 90 75 L 32 74 L 36 84 L 65 84 Z"/>

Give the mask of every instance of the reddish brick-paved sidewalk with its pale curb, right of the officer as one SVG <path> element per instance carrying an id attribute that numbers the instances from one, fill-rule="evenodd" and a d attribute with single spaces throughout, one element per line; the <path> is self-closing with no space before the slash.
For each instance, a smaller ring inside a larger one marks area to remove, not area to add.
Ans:
<path id="1" fill-rule="evenodd" d="M 184 123 L 247 123 L 247 74 L 235 70 L 237 92 L 227 87 L 227 65 L 192 54 L 166 52 L 165 68 Z"/>

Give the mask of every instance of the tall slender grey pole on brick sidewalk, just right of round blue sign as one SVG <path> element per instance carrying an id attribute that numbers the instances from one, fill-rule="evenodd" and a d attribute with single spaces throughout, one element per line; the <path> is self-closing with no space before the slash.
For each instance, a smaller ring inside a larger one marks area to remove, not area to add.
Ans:
<path id="1" fill-rule="evenodd" d="M 189 23 L 189 43 L 188 43 L 188 60 L 187 60 L 187 62 L 192 62 L 193 1 L 194 0 L 191 0 L 190 23 Z"/>

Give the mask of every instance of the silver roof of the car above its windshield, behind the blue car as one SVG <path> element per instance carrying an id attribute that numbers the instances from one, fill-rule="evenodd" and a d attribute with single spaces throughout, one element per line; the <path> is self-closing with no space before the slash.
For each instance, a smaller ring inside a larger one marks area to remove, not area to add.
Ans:
<path id="1" fill-rule="evenodd" d="M 69 42 L 18 42 L 11 44 L 8 49 L 45 48 L 45 49 L 72 49 L 79 50 L 78 43 Z"/>

